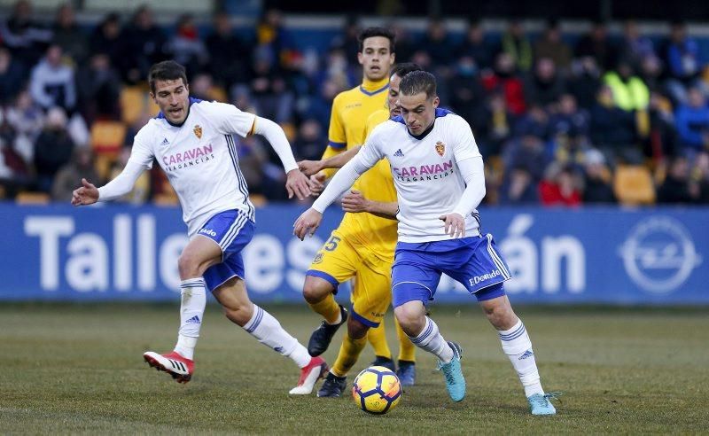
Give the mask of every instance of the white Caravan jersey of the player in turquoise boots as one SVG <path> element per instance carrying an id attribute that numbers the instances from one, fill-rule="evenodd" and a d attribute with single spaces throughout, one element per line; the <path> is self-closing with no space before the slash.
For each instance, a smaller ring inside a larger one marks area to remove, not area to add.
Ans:
<path id="1" fill-rule="evenodd" d="M 450 214 L 465 191 L 457 162 L 480 157 L 470 125 L 460 116 L 436 109 L 430 130 L 412 136 L 401 116 L 375 128 L 362 150 L 362 163 L 389 160 L 399 201 L 399 240 L 450 239 L 440 215 Z M 465 216 L 465 236 L 479 235 L 479 214 Z"/>

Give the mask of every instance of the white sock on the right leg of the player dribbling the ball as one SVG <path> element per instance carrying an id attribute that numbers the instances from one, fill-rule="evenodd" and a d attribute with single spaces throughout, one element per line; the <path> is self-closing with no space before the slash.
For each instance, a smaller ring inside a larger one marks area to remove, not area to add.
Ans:
<path id="1" fill-rule="evenodd" d="M 510 330 L 499 331 L 500 340 L 503 342 L 503 352 L 512 362 L 512 367 L 517 371 L 519 381 L 525 387 L 527 397 L 534 393 L 544 394 L 539 381 L 539 370 L 534 360 L 532 341 L 526 333 L 525 324 L 519 320 Z"/>

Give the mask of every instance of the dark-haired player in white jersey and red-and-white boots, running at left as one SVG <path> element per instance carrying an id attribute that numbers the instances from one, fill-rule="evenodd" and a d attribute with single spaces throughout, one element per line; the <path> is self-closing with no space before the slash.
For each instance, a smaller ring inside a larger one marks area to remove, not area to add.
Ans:
<path id="1" fill-rule="evenodd" d="M 153 159 L 180 199 L 190 242 L 177 261 L 182 280 L 177 344 L 168 354 L 148 351 L 144 360 L 180 383 L 191 379 L 208 289 L 231 322 L 300 367 L 300 380 L 291 393 L 310 393 L 327 365 L 320 357 L 311 358 L 276 318 L 249 300 L 241 256 L 253 237 L 255 218 L 233 135 L 264 136 L 284 164 L 289 197 L 303 199 L 310 192 L 308 179 L 300 173 L 283 129 L 234 105 L 191 98 L 184 67 L 174 61 L 152 66 L 148 82 L 160 114 L 138 131 L 126 167 L 98 189 L 83 179 L 72 199 L 74 206 L 117 199 L 152 167 Z"/>

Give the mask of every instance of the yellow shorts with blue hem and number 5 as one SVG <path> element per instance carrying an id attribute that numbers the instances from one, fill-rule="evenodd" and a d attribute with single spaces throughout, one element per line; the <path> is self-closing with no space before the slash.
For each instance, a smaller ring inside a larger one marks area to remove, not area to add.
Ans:
<path id="1" fill-rule="evenodd" d="M 392 263 L 334 230 L 306 275 L 323 278 L 336 290 L 354 277 L 350 315 L 364 325 L 377 327 L 392 302 Z"/>

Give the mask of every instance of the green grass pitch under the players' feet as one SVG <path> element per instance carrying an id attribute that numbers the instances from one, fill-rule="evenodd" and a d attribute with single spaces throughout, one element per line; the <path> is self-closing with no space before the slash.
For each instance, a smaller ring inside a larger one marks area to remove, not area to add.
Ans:
<path id="1" fill-rule="evenodd" d="M 187 385 L 141 354 L 175 342 L 174 305 L 0 305 L 0 433 L 707 432 L 709 309 L 518 308 L 556 417 L 532 417 L 495 331 L 472 303 L 433 307 L 464 347 L 467 397 L 448 400 L 419 352 L 417 386 L 370 416 L 349 395 L 290 397 L 298 371 L 209 306 Z M 301 342 L 318 323 L 304 306 L 266 306 Z M 396 351 L 391 315 L 390 344 Z M 333 362 L 341 332 L 324 355 Z M 365 349 L 348 386 L 373 357 Z"/>

